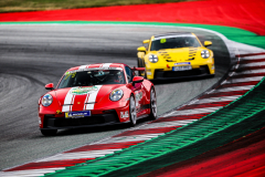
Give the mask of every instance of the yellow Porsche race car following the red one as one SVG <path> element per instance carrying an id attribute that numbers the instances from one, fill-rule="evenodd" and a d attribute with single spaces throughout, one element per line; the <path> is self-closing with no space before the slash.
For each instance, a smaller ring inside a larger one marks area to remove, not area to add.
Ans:
<path id="1" fill-rule="evenodd" d="M 212 44 L 205 41 L 204 45 L 194 33 L 166 33 L 152 35 L 142 43 L 147 48 L 138 48 L 138 67 L 141 76 L 148 80 L 180 79 L 203 75 L 214 75 L 213 52 L 205 46 Z"/>

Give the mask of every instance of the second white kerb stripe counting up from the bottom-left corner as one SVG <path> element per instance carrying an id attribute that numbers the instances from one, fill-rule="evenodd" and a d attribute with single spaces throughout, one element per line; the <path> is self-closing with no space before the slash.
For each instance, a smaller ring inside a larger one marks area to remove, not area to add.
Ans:
<path id="1" fill-rule="evenodd" d="M 105 150 L 88 150 L 88 152 L 80 152 L 80 153 L 63 153 L 57 154 L 55 156 L 44 158 L 38 162 L 53 162 L 53 160 L 64 160 L 64 159 L 80 159 L 80 158 L 96 158 L 100 156 L 105 156 L 107 154 L 113 154 L 114 152 L 121 150 L 121 148 L 115 149 L 105 149 Z"/>

